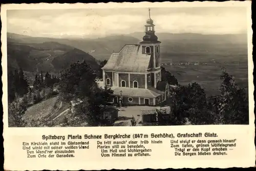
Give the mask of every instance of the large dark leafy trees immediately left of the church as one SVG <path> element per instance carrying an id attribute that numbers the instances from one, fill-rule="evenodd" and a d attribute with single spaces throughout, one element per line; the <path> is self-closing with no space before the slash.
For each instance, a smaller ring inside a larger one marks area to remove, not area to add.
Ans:
<path id="1" fill-rule="evenodd" d="M 74 114 L 66 116 L 66 125 L 104 125 L 101 109 L 108 105 L 113 91 L 101 89 L 96 82 L 97 74 L 85 61 L 75 62 L 60 73 L 59 90 L 62 100 L 80 99 L 82 102 Z"/>

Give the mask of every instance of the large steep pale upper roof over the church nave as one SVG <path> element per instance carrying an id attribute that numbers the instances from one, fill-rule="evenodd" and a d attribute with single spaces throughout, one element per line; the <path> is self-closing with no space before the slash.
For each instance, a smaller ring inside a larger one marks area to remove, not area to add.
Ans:
<path id="1" fill-rule="evenodd" d="M 102 70 L 145 72 L 151 55 L 142 54 L 141 45 L 125 45 L 120 52 L 114 52 Z"/>

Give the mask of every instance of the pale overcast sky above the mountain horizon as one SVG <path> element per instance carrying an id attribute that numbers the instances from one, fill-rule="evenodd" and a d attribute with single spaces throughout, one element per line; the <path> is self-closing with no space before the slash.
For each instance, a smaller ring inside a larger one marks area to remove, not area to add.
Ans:
<path id="1" fill-rule="evenodd" d="M 147 8 L 7 10 L 7 31 L 43 37 L 142 32 Z M 246 33 L 245 7 L 151 8 L 156 32 Z"/>

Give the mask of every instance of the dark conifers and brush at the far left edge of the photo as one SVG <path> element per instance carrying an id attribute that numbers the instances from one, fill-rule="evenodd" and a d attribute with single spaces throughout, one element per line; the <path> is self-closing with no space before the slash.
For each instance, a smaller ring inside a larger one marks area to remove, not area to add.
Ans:
<path id="1" fill-rule="evenodd" d="M 35 75 L 33 86 L 28 83 L 28 78 L 23 69 L 8 73 L 8 122 L 9 126 L 25 126 L 28 124 L 23 120 L 27 108 L 42 100 L 48 99 L 57 92 L 53 90 L 59 78 L 48 72 L 43 75 Z"/>

